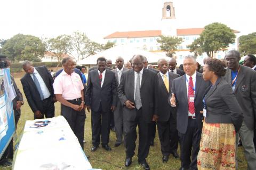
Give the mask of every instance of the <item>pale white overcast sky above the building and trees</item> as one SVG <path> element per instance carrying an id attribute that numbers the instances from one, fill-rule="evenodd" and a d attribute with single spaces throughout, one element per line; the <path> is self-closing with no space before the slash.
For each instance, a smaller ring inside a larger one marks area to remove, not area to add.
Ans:
<path id="1" fill-rule="evenodd" d="M 166 0 L 168 2 L 168 0 Z M 163 0 L 2 0 L 0 38 L 57 37 L 74 31 L 95 42 L 115 31 L 161 29 Z M 169 0 L 171 1 L 171 0 Z M 172 0 L 177 28 L 221 22 L 240 35 L 256 32 L 256 1 Z"/>

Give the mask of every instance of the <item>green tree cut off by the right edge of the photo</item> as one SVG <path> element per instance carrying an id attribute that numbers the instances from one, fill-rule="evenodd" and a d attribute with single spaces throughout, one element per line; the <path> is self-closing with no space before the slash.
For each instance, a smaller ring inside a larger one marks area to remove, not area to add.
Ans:
<path id="1" fill-rule="evenodd" d="M 256 32 L 239 37 L 239 52 L 244 55 L 256 54 Z"/>

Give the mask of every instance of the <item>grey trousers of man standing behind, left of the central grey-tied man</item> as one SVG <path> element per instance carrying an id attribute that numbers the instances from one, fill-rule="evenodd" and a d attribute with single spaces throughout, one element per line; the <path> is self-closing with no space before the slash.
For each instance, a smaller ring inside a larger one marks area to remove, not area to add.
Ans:
<path id="1" fill-rule="evenodd" d="M 117 107 L 114 110 L 114 122 L 116 129 L 116 143 L 123 142 L 123 106 L 117 101 Z"/>

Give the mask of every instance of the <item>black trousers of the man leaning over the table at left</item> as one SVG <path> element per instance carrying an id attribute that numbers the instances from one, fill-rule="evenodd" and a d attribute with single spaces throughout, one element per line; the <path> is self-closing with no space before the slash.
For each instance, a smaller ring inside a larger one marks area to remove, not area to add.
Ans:
<path id="1" fill-rule="evenodd" d="M 43 103 L 43 110 L 40 110 L 42 116 L 39 119 L 43 119 L 44 116 L 45 118 L 54 117 L 55 107 L 54 107 L 54 102 L 52 97 L 50 96 L 49 98 L 44 99 L 42 103 Z M 38 119 L 38 118 L 36 118 L 36 116 L 34 115 L 34 119 Z"/>

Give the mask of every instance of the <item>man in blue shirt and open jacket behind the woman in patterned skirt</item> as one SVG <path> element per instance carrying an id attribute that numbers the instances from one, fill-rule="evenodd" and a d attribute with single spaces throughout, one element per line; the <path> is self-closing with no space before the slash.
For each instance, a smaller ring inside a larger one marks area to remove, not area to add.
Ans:
<path id="1" fill-rule="evenodd" d="M 239 64 L 240 54 L 231 50 L 226 56 L 228 69 L 226 81 L 233 88 L 236 99 L 242 108 L 244 121 L 239 129 L 239 136 L 243 143 L 248 169 L 256 167 L 256 153 L 253 143 L 256 114 L 256 72 Z M 238 137 L 238 135 L 237 135 Z M 237 139 L 238 142 L 238 139 Z"/>

